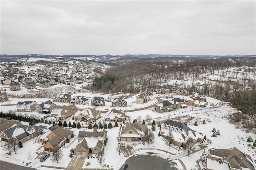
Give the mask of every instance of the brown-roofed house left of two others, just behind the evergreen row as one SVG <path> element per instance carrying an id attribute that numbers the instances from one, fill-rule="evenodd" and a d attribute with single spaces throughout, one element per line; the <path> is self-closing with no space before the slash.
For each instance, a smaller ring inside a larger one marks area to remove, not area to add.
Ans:
<path id="1" fill-rule="evenodd" d="M 74 104 L 66 106 L 56 105 L 54 109 L 52 109 L 51 117 L 55 117 L 57 120 L 63 121 L 66 118 L 73 116 L 77 111 L 78 109 Z"/>

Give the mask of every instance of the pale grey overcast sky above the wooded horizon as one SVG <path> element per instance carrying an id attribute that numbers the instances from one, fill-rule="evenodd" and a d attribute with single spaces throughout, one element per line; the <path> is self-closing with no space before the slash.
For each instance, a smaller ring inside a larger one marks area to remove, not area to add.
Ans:
<path id="1" fill-rule="evenodd" d="M 256 1 L 2 1 L 1 54 L 256 54 Z"/>

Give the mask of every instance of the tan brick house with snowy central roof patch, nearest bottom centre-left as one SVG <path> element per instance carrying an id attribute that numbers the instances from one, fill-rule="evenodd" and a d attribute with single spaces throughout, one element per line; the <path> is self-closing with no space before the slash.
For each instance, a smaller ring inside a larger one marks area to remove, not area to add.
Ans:
<path id="1" fill-rule="evenodd" d="M 104 141 L 107 138 L 107 130 L 103 129 L 100 132 L 97 128 L 94 128 L 92 132 L 79 131 L 78 133 L 78 145 L 74 148 L 75 155 L 88 155 L 99 154 L 104 150 Z"/>

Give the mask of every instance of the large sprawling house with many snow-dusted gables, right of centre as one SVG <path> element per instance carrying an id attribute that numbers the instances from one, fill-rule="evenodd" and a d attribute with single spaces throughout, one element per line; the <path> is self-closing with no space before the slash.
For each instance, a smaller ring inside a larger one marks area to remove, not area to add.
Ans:
<path id="1" fill-rule="evenodd" d="M 204 139 L 206 139 L 204 134 L 192 130 L 183 123 L 172 120 L 167 120 L 162 123 L 160 134 L 161 136 L 164 136 L 164 138 L 167 138 L 172 134 L 173 144 L 180 147 L 182 147 L 188 139 L 190 139 L 194 144 L 197 142 L 203 142 Z"/>

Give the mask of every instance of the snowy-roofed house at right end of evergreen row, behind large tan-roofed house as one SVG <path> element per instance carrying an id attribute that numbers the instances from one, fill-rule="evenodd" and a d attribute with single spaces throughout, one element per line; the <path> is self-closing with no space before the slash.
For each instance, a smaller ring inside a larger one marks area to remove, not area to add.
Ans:
<path id="1" fill-rule="evenodd" d="M 122 122 L 126 120 L 127 115 L 121 110 L 112 109 L 108 111 L 105 116 L 105 121 Z"/>

